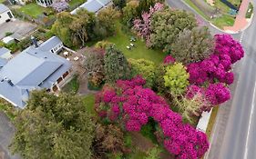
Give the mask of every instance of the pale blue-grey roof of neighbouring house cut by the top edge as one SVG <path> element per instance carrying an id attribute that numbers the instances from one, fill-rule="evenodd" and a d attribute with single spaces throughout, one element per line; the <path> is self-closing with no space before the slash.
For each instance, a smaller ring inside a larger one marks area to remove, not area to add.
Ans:
<path id="1" fill-rule="evenodd" d="M 87 9 L 88 12 L 97 13 L 100 9 L 107 7 L 111 3 L 111 0 L 87 0 L 86 3 L 78 6 L 75 10 L 70 12 L 71 15 L 75 15 L 78 9 Z"/>

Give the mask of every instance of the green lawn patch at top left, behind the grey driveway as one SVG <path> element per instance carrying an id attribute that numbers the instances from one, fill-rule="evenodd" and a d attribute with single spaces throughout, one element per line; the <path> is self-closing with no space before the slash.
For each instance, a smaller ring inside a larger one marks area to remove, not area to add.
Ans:
<path id="1" fill-rule="evenodd" d="M 49 12 L 50 8 L 45 8 L 36 3 L 30 3 L 19 8 L 19 11 L 36 18 L 38 15 L 43 14 L 43 12 Z"/>

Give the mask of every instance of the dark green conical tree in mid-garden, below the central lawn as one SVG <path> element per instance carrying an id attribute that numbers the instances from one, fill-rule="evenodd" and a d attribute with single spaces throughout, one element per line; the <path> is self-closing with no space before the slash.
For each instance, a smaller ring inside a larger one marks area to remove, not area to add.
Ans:
<path id="1" fill-rule="evenodd" d="M 128 60 L 114 45 L 107 48 L 104 56 L 104 70 L 108 83 L 115 83 L 118 79 L 130 78 Z"/>

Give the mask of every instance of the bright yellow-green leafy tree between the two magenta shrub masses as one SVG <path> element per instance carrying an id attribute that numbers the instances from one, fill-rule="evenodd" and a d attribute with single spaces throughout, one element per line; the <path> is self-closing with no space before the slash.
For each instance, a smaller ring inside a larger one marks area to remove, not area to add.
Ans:
<path id="1" fill-rule="evenodd" d="M 171 94 L 183 94 L 189 85 L 189 73 L 181 63 L 167 66 L 163 78 Z"/>

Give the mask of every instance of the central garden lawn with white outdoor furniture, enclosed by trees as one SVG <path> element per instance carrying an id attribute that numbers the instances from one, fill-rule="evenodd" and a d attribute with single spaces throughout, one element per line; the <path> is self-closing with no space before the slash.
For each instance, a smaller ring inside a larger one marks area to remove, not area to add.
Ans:
<path id="1" fill-rule="evenodd" d="M 136 42 L 133 42 L 136 47 L 133 47 L 131 50 L 127 49 L 127 45 L 129 45 L 131 42 L 130 40 L 131 35 L 128 35 L 124 33 L 121 29 L 121 24 L 117 23 L 117 32 L 115 36 L 108 37 L 108 42 L 114 43 L 117 45 L 118 49 L 120 49 L 124 55 L 128 58 L 144 58 L 146 60 L 150 60 L 156 64 L 159 64 L 163 61 L 163 58 L 165 57 L 165 54 L 162 53 L 160 50 L 152 50 L 148 49 L 146 47 L 145 42 L 141 40 L 137 40 Z"/>

